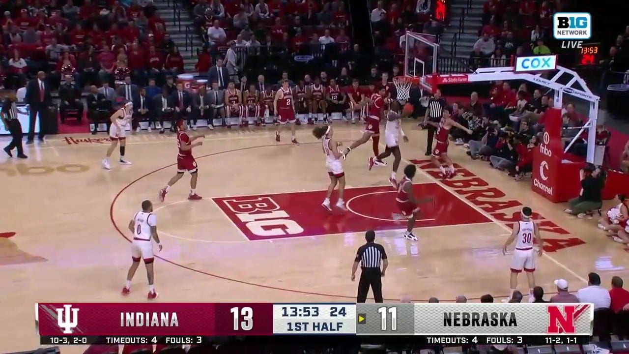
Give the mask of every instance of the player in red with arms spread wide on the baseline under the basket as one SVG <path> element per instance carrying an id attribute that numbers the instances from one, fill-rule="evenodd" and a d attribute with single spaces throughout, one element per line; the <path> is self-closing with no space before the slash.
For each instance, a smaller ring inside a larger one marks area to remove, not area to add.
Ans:
<path id="1" fill-rule="evenodd" d="M 435 133 L 435 140 L 437 140 L 437 144 L 435 144 L 435 148 L 432 151 L 430 159 L 433 164 L 441 170 L 442 178 L 452 178 L 457 173 L 454 170 L 454 163 L 452 163 L 452 159 L 448 156 L 448 135 L 450 134 L 450 129 L 452 127 L 457 127 L 467 132 L 467 134 L 472 134 L 472 130 L 465 128 L 452 119 L 451 106 L 443 107 L 442 118 L 439 123 L 426 123 L 437 128 L 437 132 Z"/>

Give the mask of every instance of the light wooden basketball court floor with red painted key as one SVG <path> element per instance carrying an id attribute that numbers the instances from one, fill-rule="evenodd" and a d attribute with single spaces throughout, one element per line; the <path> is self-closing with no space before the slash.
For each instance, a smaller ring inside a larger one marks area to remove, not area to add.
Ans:
<path id="1" fill-rule="evenodd" d="M 345 146 L 362 135 L 362 125 L 334 125 Z M 353 256 L 368 229 L 376 229 L 389 256 L 388 301 L 504 297 L 511 256 L 501 248 L 523 205 L 533 208 L 542 227 L 546 252 L 536 276 L 548 293 L 557 278 L 568 280 L 571 290 L 586 286 L 589 271 L 605 286 L 613 275 L 629 277 L 623 246 L 608 240 L 596 220 L 574 219 L 533 193 L 530 180 L 515 182 L 454 145 L 458 174 L 437 180 L 423 154 L 426 133 L 415 121 L 404 122 L 410 142 L 401 147 L 401 169 L 415 163 L 415 193 L 433 198 L 421 205 L 419 241 L 404 240 L 405 225 L 391 217 L 390 167 L 367 171 L 370 144 L 344 162 L 348 211 L 330 214 L 320 206 L 329 182 L 325 156 L 310 130 L 299 128 L 301 146 L 289 144 L 286 134 L 276 143 L 274 128 L 203 130 L 204 144 L 193 151 L 197 192 L 204 197 L 196 202 L 186 199 L 188 176 L 164 203 L 157 200 L 176 170 L 173 134 L 130 135 L 126 157 L 133 166 L 113 163 L 111 171 L 101 168 L 108 146 L 103 134 L 51 137 L 28 146 L 26 161 L 0 157 L 4 351 L 38 345 L 35 302 L 147 301 L 143 269 L 131 294 L 120 295 L 131 261 L 127 225 L 145 199 L 154 203 L 164 245 L 155 263 L 161 302 L 353 301 Z"/>

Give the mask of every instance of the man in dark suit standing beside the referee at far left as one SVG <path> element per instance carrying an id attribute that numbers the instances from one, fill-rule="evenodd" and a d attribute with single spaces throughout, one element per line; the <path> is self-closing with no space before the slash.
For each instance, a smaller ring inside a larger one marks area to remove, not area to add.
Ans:
<path id="1" fill-rule="evenodd" d="M 25 100 L 30 108 L 26 144 L 33 144 L 33 140 L 35 140 L 35 121 L 38 114 L 40 117 L 38 139 L 41 142 L 43 142 L 43 137 L 48 128 L 48 108 L 52 105 L 52 97 L 50 96 L 50 85 L 46 81 L 45 72 L 40 71 L 37 73 L 37 78 L 26 86 Z"/>

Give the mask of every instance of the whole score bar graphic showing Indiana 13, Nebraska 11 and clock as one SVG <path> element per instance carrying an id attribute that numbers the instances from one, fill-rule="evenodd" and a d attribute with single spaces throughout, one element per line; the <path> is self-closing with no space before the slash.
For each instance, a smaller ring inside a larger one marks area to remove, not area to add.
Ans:
<path id="1" fill-rule="evenodd" d="M 42 345 L 201 343 L 206 336 L 420 336 L 426 343 L 580 344 L 592 304 L 40 303 Z"/>

